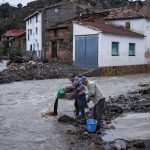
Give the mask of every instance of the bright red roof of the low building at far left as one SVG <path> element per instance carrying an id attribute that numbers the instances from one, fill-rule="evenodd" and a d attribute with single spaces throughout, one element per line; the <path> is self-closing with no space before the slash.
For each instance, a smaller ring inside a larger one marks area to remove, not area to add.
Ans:
<path id="1" fill-rule="evenodd" d="M 4 36 L 6 37 L 16 37 L 19 35 L 22 35 L 26 32 L 25 29 L 14 29 L 14 30 L 9 30 L 6 33 L 4 33 Z"/>

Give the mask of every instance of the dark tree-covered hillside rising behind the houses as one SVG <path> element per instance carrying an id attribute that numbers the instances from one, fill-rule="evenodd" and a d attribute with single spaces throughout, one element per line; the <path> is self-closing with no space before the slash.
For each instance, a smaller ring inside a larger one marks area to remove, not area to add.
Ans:
<path id="1" fill-rule="evenodd" d="M 15 28 L 25 28 L 24 18 L 39 8 L 43 8 L 55 3 L 71 0 L 37 0 L 22 7 L 18 4 L 17 7 L 10 6 L 9 3 L 0 6 L 0 35 L 6 30 Z M 73 0 L 72 0 L 73 1 Z M 124 6 L 128 0 L 74 0 L 85 7 L 97 6 L 99 8 L 112 8 Z M 101 6 L 101 7 L 99 7 Z M 95 7 L 96 8 L 96 7 Z"/>

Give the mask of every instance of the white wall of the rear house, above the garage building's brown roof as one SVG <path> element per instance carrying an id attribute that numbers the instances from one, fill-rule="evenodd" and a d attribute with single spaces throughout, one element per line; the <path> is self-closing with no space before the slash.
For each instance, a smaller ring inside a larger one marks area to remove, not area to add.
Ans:
<path id="1" fill-rule="evenodd" d="M 130 22 L 131 31 L 145 35 L 145 49 L 150 49 L 150 19 L 123 19 L 107 21 L 118 26 L 125 27 L 126 22 Z"/>

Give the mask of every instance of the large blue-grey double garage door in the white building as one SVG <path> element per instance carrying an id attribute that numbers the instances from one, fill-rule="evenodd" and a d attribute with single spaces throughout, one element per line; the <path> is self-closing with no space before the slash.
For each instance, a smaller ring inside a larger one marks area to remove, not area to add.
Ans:
<path id="1" fill-rule="evenodd" d="M 75 37 L 75 65 L 85 68 L 98 67 L 98 36 Z"/>

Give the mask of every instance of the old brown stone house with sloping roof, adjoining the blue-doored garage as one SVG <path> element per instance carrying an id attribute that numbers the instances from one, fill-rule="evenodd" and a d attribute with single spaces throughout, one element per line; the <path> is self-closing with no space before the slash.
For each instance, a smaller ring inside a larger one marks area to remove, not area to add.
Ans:
<path id="1" fill-rule="evenodd" d="M 49 44 L 46 51 L 49 62 L 54 60 L 72 62 L 72 21 L 71 19 L 47 29 Z"/>

